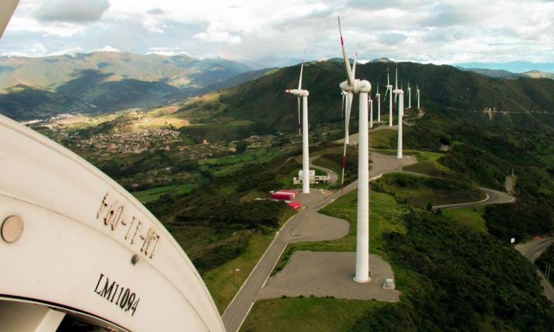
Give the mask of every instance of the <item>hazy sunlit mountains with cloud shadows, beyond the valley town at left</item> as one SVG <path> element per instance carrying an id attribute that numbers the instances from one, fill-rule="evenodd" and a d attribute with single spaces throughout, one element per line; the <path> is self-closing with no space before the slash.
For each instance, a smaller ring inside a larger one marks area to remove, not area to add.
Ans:
<path id="1" fill-rule="evenodd" d="M 226 59 L 95 52 L 0 57 L 0 113 L 17 120 L 184 99 L 251 68 Z"/>

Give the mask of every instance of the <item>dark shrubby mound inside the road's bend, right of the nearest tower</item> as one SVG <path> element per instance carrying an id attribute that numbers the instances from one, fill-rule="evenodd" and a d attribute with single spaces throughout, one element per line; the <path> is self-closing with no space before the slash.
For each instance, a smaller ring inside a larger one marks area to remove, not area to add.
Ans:
<path id="1" fill-rule="evenodd" d="M 467 182 L 401 173 L 386 174 L 375 181 L 374 188 L 418 208 L 426 208 L 429 203 L 444 205 L 485 199 L 481 190 Z"/>

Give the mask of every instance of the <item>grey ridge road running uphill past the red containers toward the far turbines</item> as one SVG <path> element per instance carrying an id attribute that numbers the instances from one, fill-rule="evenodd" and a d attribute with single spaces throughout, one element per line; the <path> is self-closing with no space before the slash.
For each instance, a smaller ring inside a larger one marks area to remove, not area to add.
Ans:
<path id="1" fill-rule="evenodd" d="M 400 171 L 405 165 L 417 163 L 414 156 L 404 156 L 402 159 L 397 159 L 395 156 L 385 156 L 375 152 L 372 152 L 371 159 L 373 160 L 373 168 L 370 171 L 372 179 L 378 178 L 386 172 Z M 346 194 L 356 188 L 357 182 L 350 183 L 344 187 L 343 193 Z M 256 301 L 260 288 L 262 288 L 267 281 L 267 278 L 289 242 L 339 239 L 348 233 L 348 228 L 346 228 L 345 233 L 340 225 L 336 225 L 339 224 L 336 221 L 340 221 L 340 223 L 346 222 L 348 225 L 348 221 L 341 221 L 341 219 L 336 219 L 333 223 L 333 225 L 335 225 L 334 227 L 340 228 L 339 232 L 333 230 L 332 232 L 334 232 L 334 234 L 328 234 L 327 232 L 321 233 L 321 230 L 330 228 L 331 223 L 328 223 L 328 226 L 321 227 L 321 223 L 325 222 L 327 219 L 325 219 L 322 214 L 319 214 L 317 210 L 338 199 L 340 196 L 340 190 L 337 192 L 328 192 L 316 189 L 312 189 L 311 194 L 300 194 L 298 196 L 298 201 L 300 201 L 303 206 L 306 206 L 307 209 L 301 210 L 298 214 L 289 219 L 280 232 L 278 232 L 274 241 L 269 245 L 269 248 L 260 261 L 258 261 L 258 265 L 253 269 L 247 281 L 244 282 L 240 291 L 223 313 L 223 322 L 228 332 L 235 332 L 240 329 L 253 302 Z M 332 219 L 331 217 L 327 218 L 329 218 L 329 220 Z M 318 232 L 320 233 L 317 234 Z"/>

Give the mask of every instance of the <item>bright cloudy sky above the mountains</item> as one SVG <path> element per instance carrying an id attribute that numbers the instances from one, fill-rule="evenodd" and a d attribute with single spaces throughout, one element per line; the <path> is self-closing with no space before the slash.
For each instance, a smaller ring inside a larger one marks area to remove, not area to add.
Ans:
<path id="1" fill-rule="evenodd" d="M 554 62 L 554 1 L 21 0 L 0 55 L 93 50 L 193 57 Z"/>

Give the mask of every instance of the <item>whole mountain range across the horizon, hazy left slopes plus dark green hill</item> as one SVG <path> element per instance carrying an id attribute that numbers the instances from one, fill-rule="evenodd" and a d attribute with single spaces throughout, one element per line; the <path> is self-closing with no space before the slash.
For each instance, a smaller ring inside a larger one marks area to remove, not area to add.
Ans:
<path id="1" fill-rule="evenodd" d="M 310 90 L 310 124 L 341 119 L 338 84 L 344 73 L 338 60 L 305 66 L 303 86 Z M 493 125 L 554 127 L 554 80 L 447 65 L 401 62 L 398 66 L 404 88 L 408 80 L 412 88 L 418 84 L 427 109 Z M 393 67 L 386 58 L 358 64 L 357 77 L 370 80 L 373 93 L 379 85 L 384 95 L 389 67 L 392 80 Z M 224 112 L 233 118 L 294 130 L 296 100 L 284 98 L 283 90 L 298 84 L 299 65 L 250 69 L 225 59 L 198 60 L 186 55 L 98 52 L 75 57 L 0 57 L 0 113 L 17 120 L 68 112 L 101 113 L 220 90 Z"/>

